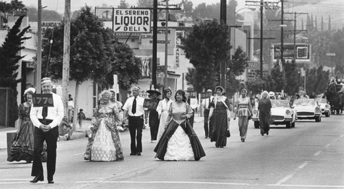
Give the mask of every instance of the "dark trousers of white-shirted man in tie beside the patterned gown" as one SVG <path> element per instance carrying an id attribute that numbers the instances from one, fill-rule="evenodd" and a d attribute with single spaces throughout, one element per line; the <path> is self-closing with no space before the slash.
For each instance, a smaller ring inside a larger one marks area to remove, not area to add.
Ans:
<path id="1" fill-rule="evenodd" d="M 131 153 L 142 153 L 143 115 L 129 116 L 130 150 Z M 137 133 L 136 133 L 137 131 Z M 136 145 L 137 142 L 137 145 Z"/>

